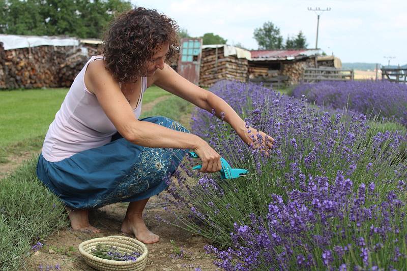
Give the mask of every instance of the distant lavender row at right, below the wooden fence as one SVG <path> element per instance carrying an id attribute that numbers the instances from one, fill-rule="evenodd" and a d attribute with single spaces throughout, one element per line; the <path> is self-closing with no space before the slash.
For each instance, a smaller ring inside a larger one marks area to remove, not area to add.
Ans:
<path id="1" fill-rule="evenodd" d="M 326 81 L 302 84 L 293 96 L 305 95 L 309 101 L 330 108 L 345 108 L 395 118 L 407 125 L 407 85 L 388 81 Z"/>

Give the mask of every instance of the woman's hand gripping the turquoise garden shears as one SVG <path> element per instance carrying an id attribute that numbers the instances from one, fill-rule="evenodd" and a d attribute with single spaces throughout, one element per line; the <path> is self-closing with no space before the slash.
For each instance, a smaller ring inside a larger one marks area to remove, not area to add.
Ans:
<path id="1" fill-rule="evenodd" d="M 202 140 L 201 144 L 194 149 L 194 152 L 202 161 L 200 172 L 212 173 L 221 170 L 220 154 L 212 149 L 206 141 Z"/>

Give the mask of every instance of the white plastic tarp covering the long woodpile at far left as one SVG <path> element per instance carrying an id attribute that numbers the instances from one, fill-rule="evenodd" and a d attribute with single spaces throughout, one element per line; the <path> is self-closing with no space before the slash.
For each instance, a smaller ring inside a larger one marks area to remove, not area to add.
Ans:
<path id="1" fill-rule="evenodd" d="M 0 42 L 4 50 L 28 48 L 36 46 L 78 46 L 79 41 L 73 38 L 56 38 L 48 36 L 19 36 L 0 34 Z"/>

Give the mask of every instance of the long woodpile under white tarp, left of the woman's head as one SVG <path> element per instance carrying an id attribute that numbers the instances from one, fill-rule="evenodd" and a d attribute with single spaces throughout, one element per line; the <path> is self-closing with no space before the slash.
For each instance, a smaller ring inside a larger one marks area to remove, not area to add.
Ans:
<path id="1" fill-rule="evenodd" d="M 74 46 L 36 46 L 4 50 L 0 43 L 0 89 L 70 87 L 90 55 Z"/>

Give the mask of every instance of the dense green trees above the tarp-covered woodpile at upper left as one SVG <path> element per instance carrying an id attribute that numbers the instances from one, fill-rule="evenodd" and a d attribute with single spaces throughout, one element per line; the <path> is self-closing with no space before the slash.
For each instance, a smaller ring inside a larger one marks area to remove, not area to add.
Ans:
<path id="1" fill-rule="evenodd" d="M 123 0 L 0 0 L 0 33 L 101 38 Z"/>

